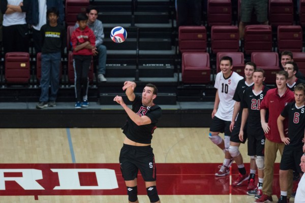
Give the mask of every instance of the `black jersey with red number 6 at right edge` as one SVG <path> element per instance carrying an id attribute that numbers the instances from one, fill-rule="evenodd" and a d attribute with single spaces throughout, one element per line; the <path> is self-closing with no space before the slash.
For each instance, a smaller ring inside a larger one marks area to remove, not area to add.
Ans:
<path id="1" fill-rule="evenodd" d="M 290 149 L 302 149 L 305 128 L 305 107 L 297 108 L 295 101 L 288 103 L 282 111 L 281 115 L 284 118 L 288 117 L 288 138 L 290 139 L 289 145 L 285 146 Z"/>

